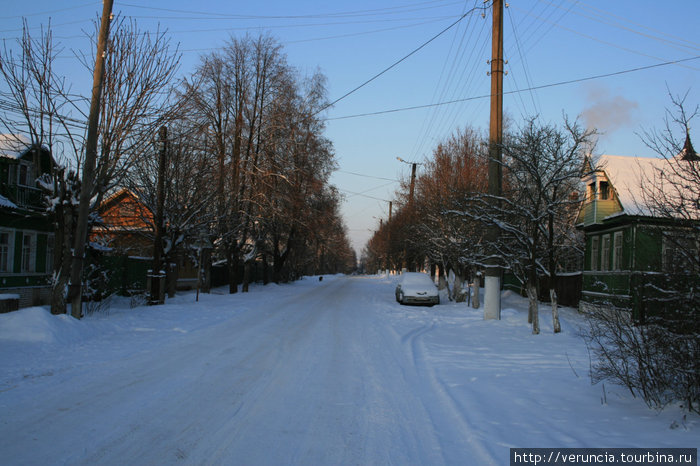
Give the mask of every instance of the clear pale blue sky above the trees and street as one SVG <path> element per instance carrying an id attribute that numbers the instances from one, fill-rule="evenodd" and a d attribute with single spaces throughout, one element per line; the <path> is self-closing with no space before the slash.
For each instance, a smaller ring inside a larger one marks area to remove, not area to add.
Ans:
<path id="1" fill-rule="evenodd" d="M 512 0 L 505 11 L 504 37 L 508 75 L 504 108 L 514 125 L 540 115 L 560 122 L 562 112 L 603 133 L 598 153 L 653 155 L 635 133 L 660 127 L 674 93 L 690 89 L 688 102 L 699 102 L 700 41 L 698 0 Z M 121 2 L 115 12 L 134 16 L 143 27 L 160 23 L 183 51 L 182 73 L 199 56 L 231 35 L 270 33 L 284 46 L 289 63 L 302 74 L 319 68 L 328 77 L 335 100 L 400 60 L 454 23 L 482 0 L 346 1 L 200 1 Z M 55 35 L 65 43 L 61 66 L 76 87 L 90 74 L 76 65 L 70 49 L 88 44 L 81 29 L 101 11 L 99 1 L 29 0 L 5 5 L 0 37 L 21 31 L 21 17 L 31 27 L 52 18 Z M 488 129 L 490 11 L 475 12 L 420 51 L 326 112 L 327 136 L 333 141 L 339 171 L 332 182 L 346 196 L 345 222 L 353 245 L 364 246 L 378 218 L 388 216 L 398 183 L 408 165 L 420 162 L 457 127 Z M 682 64 L 601 77 L 665 62 Z M 87 93 L 86 93 L 87 94 Z M 415 110 L 350 117 L 460 99 L 459 103 Z M 694 136 L 694 133 L 692 133 Z M 700 136 L 694 136 L 700 141 Z M 700 142 L 696 143 L 700 144 Z M 366 175 L 366 176 L 358 176 Z M 355 194 L 360 193 L 360 194 Z M 368 197 L 369 196 L 369 197 Z"/>

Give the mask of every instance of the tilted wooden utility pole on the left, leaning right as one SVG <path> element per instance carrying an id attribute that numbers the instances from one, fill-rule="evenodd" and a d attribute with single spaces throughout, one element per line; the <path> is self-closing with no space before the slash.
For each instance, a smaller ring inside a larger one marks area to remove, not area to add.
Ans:
<path id="1" fill-rule="evenodd" d="M 109 22 L 112 19 L 113 0 L 104 0 L 102 5 L 102 20 L 97 37 L 97 53 L 95 69 L 92 73 L 92 97 L 90 114 L 88 115 L 87 140 L 85 141 L 85 164 L 80 188 L 80 204 L 78 205 L 78 224 L 73 243 L 73 260 L 71 264 L 70 284 L 67 299 L 71 303 L 71 315 L 76 319 L 82 317 L 82 278 L 83 262 L 85 259 L 85 244 L 88 241 L 88 217 L 92 189 L 95 185 L 95 165 L 97 163 L 97 136 L 100 123 L 100 101 L 102 98 L 102 83 L 105 74 L 105 57 L 107 55 L 107 38 L 109 37 Z"/>

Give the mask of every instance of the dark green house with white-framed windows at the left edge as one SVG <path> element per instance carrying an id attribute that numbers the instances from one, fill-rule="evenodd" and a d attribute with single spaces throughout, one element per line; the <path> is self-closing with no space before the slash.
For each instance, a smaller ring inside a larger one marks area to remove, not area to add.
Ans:
<path id="1" fill-rule="evenodd" d="M 54 167 L 46 147 L 0 135 L 0 294 L 18 297 L 19 307 L 50 297 L 54 234 L 41 186 Z"/>

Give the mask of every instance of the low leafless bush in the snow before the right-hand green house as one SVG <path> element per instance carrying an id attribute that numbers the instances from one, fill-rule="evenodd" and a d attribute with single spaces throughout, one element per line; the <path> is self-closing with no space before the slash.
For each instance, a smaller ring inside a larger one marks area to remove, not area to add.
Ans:
<path id="1" fill-rule="evenodd" d="M 696 327 L 694 312 L 686 315 L 691 325 L 683 331 L 677 320 L 656 316 L 639 324 L 611 306 L 589 306 L 584 313 L 593 383 L 622 384 L 651 408 L 682 401 L 688 411 L 700 412 L 700 334 L 688 331 Z"/>

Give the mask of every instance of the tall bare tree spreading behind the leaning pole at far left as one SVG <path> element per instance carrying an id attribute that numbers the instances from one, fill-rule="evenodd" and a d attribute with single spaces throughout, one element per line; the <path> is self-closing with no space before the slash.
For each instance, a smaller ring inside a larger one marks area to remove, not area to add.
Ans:
<path id="1" fill-rule="evenodd" d="M 85 193 L 88 213 L 142 155 L 152 134 L 150 128 L 168 117 L 167 92 L 179 63 L 179 54 L 172 50 L 164 32 L 149 34 L 133 21 L 120 18 L 113 23 L 105 53 L 104 93 L 98 107 L 101 119 L 95 170 L 89 192 Z M 65 164 L 56 172 L 58 190 L 52 193 L 55 200 L 50 203 L 56 222 L 56 249 L 61 251 L 56 254 L 54 266 L 52 312 L 64 313 L 66 287 L 73 269 L 74 206 L 85 187 L 77 180 L 82 177 L 85 158 L 85 107 L 89 99 L 73 92 L 67 80 L 54 72 L 53 60 L 61 48 L 53 42 L 50 28 L 34 40 L 25 23 L 17 45 L 18 55 L 6 43 L 0 57 L 8 88 L 3 96 L 6 112 L 0 121 L 8 131 L 28 134 L 34 143 L 47 145 Z M 83 57 L 88 70 L 92 70 L 94 58 L 94 51 L 93 60 Z M 82 254 L 79 256 L 82 260 Z M 79 316 L 79 310 L 76 313 Z"/>

